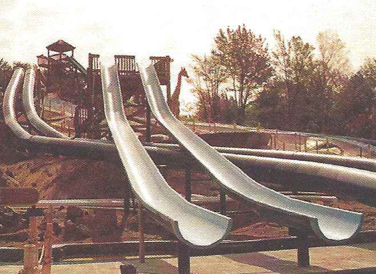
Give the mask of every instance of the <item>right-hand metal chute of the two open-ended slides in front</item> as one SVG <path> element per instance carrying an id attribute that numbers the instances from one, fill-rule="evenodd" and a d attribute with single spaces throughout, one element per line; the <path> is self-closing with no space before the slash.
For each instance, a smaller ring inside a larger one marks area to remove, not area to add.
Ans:
<path id="1" fill-rule="evenodd" d="M 359 232 L 363 222 L 360 213 L 295 200 L 249 178 L 172 115 L 152 64 L 147 68 L 139 64 L 139 70 L 154 116 L 229 194 L 259 206 L 265 216 L 281 224 L 311 230 L 327 241 L 344 241 Z"/>

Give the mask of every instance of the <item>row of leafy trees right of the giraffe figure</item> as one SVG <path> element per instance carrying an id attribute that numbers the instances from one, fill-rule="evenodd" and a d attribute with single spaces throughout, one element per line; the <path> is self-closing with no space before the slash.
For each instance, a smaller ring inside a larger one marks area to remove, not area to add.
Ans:
<path id="1" fill-rule="evenodd" d="M 317 48 L 300 36 L 275 46 L 245 25 L 220 29 L 210 54 L 192 56 L 198 119 L 270 129 L 376 137 L 376 59 L 354 71 L 334 31 Z"/>

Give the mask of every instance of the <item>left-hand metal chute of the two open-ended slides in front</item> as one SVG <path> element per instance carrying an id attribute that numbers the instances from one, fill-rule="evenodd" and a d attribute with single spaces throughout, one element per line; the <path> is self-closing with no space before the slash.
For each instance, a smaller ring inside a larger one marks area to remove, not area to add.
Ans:
<path id="1" fill-rule="evenodd" d="M 116 66 L 101 65 L 104 111 L 130 185 L 143 206 L 163 219 L 178 239 L 195 248 L 224 239 L 231 219 L 186 201 L 164 180 L 124 113 Z"/>

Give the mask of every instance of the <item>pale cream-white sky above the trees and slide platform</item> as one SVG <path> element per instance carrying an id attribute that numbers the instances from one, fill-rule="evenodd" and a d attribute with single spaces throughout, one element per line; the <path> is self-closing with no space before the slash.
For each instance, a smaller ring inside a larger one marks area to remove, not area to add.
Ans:
<path id="1" fill-rule="evenodd" d="M 36 63 L 36 56 L 58 39 L 76 47 L 75 58 L 84 67 L 88 53 L 170 55 L 173 90 L 191 54 L 209 53 L 220 28 L 243 23 L 270 47 L 273 29 L 313 45 L 319 31 L 333 29 L 356 69 L 367 57 L 376 57 L 374 0 L 1 0 L 0 57 Z M 192 99 L 189 93 L 183 81 L 182 99 Z"/>

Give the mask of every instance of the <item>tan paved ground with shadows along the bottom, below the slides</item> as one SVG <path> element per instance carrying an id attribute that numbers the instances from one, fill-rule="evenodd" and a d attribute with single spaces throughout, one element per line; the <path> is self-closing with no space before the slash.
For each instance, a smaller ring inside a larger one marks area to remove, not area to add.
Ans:
<path id="1" fill-rule="evenodd" d="M 356 270 L 376 274 L 376 243 L 342 247 L 311 248 L 311 266 L 297 266 L 296 250 L 192 257 L 192 274 L 317 274 Z M 149 257 L 139 264 L 136 258 L 74 258 L 54 265 L 52 274 L 119 274 L 121 263 L 134 264 L 138 273 L 177 274 L 177 259 Z M 369 268 L 373 268 L 370 270 Z M 21 266 L 0 266 L 1 274 L 17 274 Z M 371 272 L 370 272 L 371 271 Z M 346 272 L 347 273 L 347 272 Z"/>

